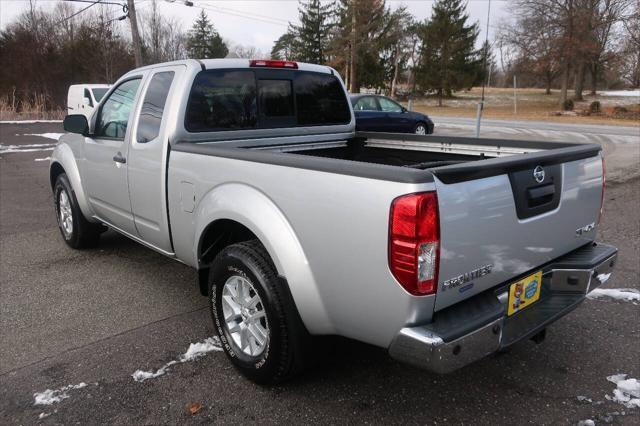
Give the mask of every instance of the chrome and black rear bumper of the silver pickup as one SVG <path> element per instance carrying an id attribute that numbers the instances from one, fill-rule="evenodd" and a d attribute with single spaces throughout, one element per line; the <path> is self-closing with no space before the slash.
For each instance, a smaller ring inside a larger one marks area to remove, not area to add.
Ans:
<path id="1" fill-rule="evenodd" d="M 542 267 L 540 300 L 508 317 L 509 283 L 434 315 L 430 324 L 400 330 L 389 354 L 402 362 L 448 373 L 544 330 L 606 282 L 618 250 L 593 244 Z M 526 276 L 527 274 L 525 274 Z"/>

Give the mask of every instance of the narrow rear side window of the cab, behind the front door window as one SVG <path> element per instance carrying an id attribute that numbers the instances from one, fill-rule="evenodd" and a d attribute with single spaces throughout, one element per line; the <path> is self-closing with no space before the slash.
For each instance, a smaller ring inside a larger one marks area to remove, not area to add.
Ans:
<path id="1" fill-rule="evenodd" d="M 167 96 L 169 95 L 174 75 L 173 71 L 159 72 L 151 79 L 147 93 L 144 95 L 140 119 L 138 120 L 136 140 L 139 143 L 152 141 L 160 134 L 162 113 L 167 103 Z"/>

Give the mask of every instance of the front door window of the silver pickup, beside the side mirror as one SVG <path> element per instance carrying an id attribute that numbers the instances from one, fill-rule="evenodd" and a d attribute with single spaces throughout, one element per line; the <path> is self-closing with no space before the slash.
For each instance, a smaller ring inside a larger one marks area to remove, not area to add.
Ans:
<path id="1" fill-rule="evenodd" d="M 127 80 L 111 92 L 100 108 L 96 137 L 124 140 L 140 81 L 140 78 Z"/>

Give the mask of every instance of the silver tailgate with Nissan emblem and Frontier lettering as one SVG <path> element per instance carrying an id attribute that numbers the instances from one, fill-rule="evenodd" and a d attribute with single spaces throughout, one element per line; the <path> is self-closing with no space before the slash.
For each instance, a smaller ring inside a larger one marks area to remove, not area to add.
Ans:
<path id="1" fill-rule="evenodd" d="M 580 145 L 433 169 L 441 239 L 435 309 L 593 241 L 600 149 Z"/>

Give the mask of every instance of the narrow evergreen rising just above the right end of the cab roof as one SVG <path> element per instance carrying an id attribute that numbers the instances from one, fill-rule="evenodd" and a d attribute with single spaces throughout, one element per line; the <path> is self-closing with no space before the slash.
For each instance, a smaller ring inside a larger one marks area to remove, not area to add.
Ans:
<path id="1" fill-rule="evenodd" d="M 322 5 L 320 0 L 300 2 L 300 25 L 290 29 L 297 44 L 296 60 L 323 64 L 326 62 L 327 45 L 331 32 L 333 5 Z"/>

